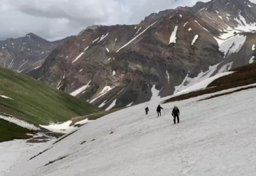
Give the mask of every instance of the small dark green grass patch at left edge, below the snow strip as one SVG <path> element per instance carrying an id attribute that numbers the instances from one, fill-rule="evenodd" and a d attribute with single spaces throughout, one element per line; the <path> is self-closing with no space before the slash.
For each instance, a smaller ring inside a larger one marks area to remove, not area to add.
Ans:
<path id="1" fill-rule="evenodd" d="M 27 133 L 33 134 L 33 131 L 17 126 L 9 121 L 0 119 L 0 143 L 14 139 L 30 138 L 31 136 L 27 136 Z"/>

